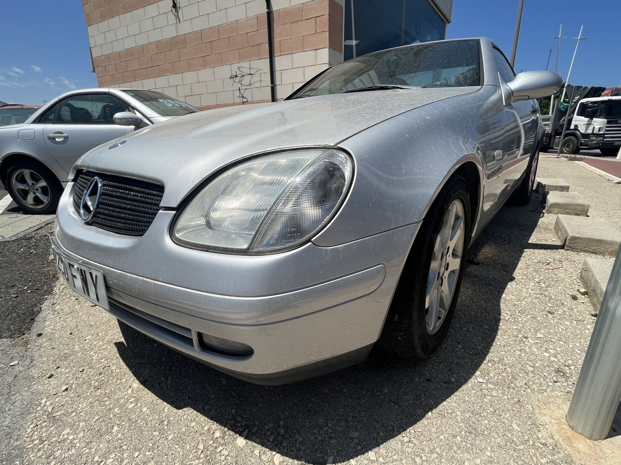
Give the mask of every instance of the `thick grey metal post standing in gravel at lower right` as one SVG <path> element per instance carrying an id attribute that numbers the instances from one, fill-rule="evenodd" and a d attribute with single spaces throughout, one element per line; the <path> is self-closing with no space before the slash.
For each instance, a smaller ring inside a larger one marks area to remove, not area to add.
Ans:
<path id="1" fill-rule="evenodd" d="M 604 439 L 621 401 L 621 248 L 599 308 L 566 420 L 576 433 Z"/>

